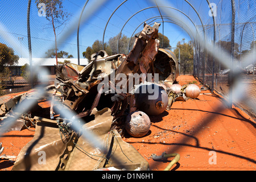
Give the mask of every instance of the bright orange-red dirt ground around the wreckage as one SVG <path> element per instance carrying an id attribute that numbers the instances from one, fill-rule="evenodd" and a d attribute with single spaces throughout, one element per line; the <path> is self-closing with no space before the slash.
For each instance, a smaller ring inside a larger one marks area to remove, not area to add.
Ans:
<path id="1" fill-rule="evenodd" d="M 197 81 L 193 76 L 179 76 L 180 85 Z M 196 83 L 200 87 L 199 81 Z M 176 101 L 171 110 L 150 117 L 150 132 L 142 138 L 125 136 L 147 160 L 151 171 L 162 171 L 173 158 L 155 161 L 151 154 L 178 153 L 176 171 L 253 171 L 256 166 L 255 121 L 240 109 L 229 109 L 224 98 L 202 91 L 196 100 Z M 0 142 L 2 154 L 19 154 L 34 132 L 11 131 Z M 216 158 L 212 159 L 213 156 Z M 0 170 L 10 171 L 13 163 L 0 159 Z"/>

